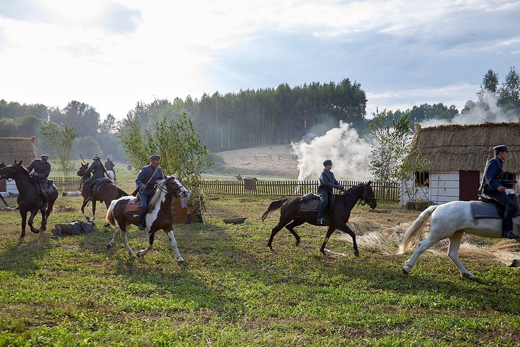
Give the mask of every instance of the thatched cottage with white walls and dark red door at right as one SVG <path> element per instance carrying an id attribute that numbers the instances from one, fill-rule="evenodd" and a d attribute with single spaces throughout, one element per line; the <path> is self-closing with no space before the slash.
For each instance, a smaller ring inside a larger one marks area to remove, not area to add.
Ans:
<path id="1" fill-rule="evenodd" d="M 487 159 L 493 147 L 509 146 L 504 171 L 509 179 L 520 172 L 520 123 L 443 125 L 421 128 L 415 124 L 410 151 L 420 149 L 429 161 L 424 172 L 401 185 L 401 205 L 422 198 L 436 204 L 476 200 Z"/>

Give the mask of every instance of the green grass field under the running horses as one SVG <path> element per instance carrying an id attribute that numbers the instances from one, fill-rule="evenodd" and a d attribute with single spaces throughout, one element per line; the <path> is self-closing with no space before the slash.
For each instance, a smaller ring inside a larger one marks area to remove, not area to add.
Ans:
<path id="1" fill-rule="evenodd" d="M 53 239 L 55 223 L 81 219 L 80 197 L 60 196 L 49 230 L 23 241 L 19 213 L 0 211 L 0 346 L 520 344 L 519 272 L 503 262 L 461 251 L 478 277 L 464 280 L 444 244 L 405 276 L 410 253 L 395 255 L 396 237 L 418 212 L 397 204 L 378 206 L 379 214 L 354 208 L 358 258 L 343 236 L 327 248 L 346 256 L 322 255 L 325 228 L 308 224 L 297 228 L 299 247 L 281 230 L 271 253 L 279 212 L 265 222 L 260 215 L 275 199 L 207 196 L 206 225 L 174 226 L 184 267 L 164 232 L 141 258 L 121 242 L 107 250 L 112 230 L 99 219 L 91 235 Z M 227 217 L 248 219 L 234 225 Z M 128 235 L 134 251 L 146 246 L 136 227 Z M 518 255 L 516 244 L 508 249 Z"/>

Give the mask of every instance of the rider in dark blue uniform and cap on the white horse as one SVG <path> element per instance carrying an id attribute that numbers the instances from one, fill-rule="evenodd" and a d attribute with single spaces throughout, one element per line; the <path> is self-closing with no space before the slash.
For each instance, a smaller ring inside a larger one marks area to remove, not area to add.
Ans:
<path id="1" fill-rule="evenodd" d="M 496 146 L 493 152 L 494 158 L 486 164 L 482 190 L 487 196 L 491 196 L 505 208 L 502 217 L 502 237 L 504 239 L 518 239 L 519 237 L 512 232 L 512 217 L 517 207 L 512 198 L 505 192 L 506 188 L 514 187 L 517 184 L 517 180 L 504 180 L 504 171 L 502 169 L 503 163 L 508 158 L 508 146 L 505 146 L 505 144 Z"/>

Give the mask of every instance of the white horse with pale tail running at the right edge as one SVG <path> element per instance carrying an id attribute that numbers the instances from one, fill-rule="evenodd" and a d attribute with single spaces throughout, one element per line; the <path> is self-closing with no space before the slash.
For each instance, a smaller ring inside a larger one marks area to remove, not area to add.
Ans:
<path id="1" fill-rule="evenodd" d="M 514 200 L 517 201 L 517 208 L 518 196 L 520 194 L 519 188 L 520 184 L 517 185 L 514 191 L 516 196 Z M 489 203 L 489 207 L 494 208 L 492 203 Z M 411 248 L 419 232 L 423 230 L 428 220 L 430 221 L 430 235 L 419 243 L 412 257 L 406 260 L 403 266 L 403 272 L 405 274 L 410 272 L 417 258 L 424 251 L 442 239 L 449 239 L 448 256 L 459 269 L 460 276 L 473 280 L 475 279 L 473 273 L 467 271 L 458 259 L 458 248 L 460 247 L 460 241 L 464 233 L 467 232 L 468 234 L 489 238 L 502 237 L 502 219 L 476 219 L 473 217 L 471 203 L 469 201 L 451 201 L 450 203 L 444 203 L 442 205 L 430 206 L 419 214 L 419 217 L 417 217 L 408 230 L 406 230 L 397 254 L 402 254 Z M 520 235 L 520 216 L 513 218 L 513 232 L 516 235 Z M 520 242 L 520 239 L 516 240 Z M 520 266 L 520 260 L 513 260 L 509 266 Z"/>

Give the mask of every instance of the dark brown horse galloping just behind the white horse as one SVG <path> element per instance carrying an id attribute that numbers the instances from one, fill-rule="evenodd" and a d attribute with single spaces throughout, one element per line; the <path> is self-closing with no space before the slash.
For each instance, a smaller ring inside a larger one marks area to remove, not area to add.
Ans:
<path id="1" fill-rule="evenodd" d="M 357 257 L 359 256 L 359 252 L 358 245 L 356 244 L 356 235 L 347 226 L 347 221 L 349 221 L 350 218 L 350 211 L 352 208 L 354 208 L 354 205 L 356 205 L 360 199 L 363 201 L 363 205 L 367 203 L 370 205 L 370 208 L 376 208 L 377 201 L 374 196 L 374 191 L 370 186 L 370 182 L 368 182 L 361 185 L 356 185 L 355 187 L 348 189 L 344 194 L 333 195 L 335 197 L 334 205 L 331 213 L 329 213 L 327 217 L 327 219 L 329 219 L 329 229 L 327 230 L 327 235 L 325 235 L 325 239 L 320 248 L 320 251 L 321 253 L 325 254 L 325 246 L 329 241 L 329 237 L 331 237 L 334 230 L 340 229 L 343 232 L 347 232 L 347 234 L 352 237 L 352 241 L 354 243 L 354 255 Z M 298 246 L 300 244 L 300 235 L 295 232 L 294 228 L 296 226 L 301 226 L 303 223 L 309 223 L 315 226 L 318 225 L 316 223 L 318 211 L 301 211 L 300 205 L 302 205 L 300 197 L 286 198 L 284 200 L 273 201 L 270 203 L 267 210 L 263 212 L 262 221 L 266 219 L 269 212 L 281 208 L 280 221 L 278 222 L 277 226 L 272 229 L 271 237 L 267 244 L 271 251 L 272 239 L 275 237 L 277 232 L 281 230 L 281 228 L 284 228 L 284 226 L 291 232 L 291 234 L 294 235 L 296 238 L 296 246 Z"/>

